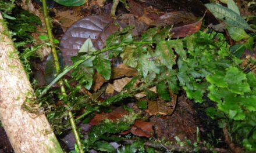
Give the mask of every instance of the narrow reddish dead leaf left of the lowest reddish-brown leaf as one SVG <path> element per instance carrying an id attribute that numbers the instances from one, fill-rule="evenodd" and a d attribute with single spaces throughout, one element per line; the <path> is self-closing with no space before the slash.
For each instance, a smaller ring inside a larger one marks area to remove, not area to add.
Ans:
<path id="1" fill-rule="evenodd" d="M 98 123 L 103 121 L 104 119 L 111 119 L 112 121 L 116 121 L 117 119 L 120 119 L 127 114 L 128 112 L 125 111 L 122 107 L 118 107 L 109 113 L 102 112 L 101 114 L 96 114 L 94 118 L 91 119 L 89 124 L 93 126 L 98 125 Z"/>

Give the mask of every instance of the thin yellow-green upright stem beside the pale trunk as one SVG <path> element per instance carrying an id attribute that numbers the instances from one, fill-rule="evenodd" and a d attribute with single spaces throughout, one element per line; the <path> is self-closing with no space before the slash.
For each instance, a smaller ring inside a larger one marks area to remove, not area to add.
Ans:
<path id="1" fill-rule="evenodd" d="M 54 37 L 52 35 L 51 25 L 50 25 L 50 21 L 49 21 L 49 18 L 48 18 L 46 0 L 42 0 L 42 8 L 43 8 L 43 11 L 44 11 L 44 20 L 45 20 L 45 26 L 47 28 L 47 34 L 48 34 L 49 42 L 51 43 L 52 56 L 54 57 L 54 67 L 55 67 L 55 70 L 56 70 L 56 74 L 59 74 L 59 72 L 61 71 L 61 67 L 59 66 L 58 54 L 56 52 L 56 48 L 55 48 L 55 45 L 54 45 Z M 61 88 L 62 96 L 66 97 L 67 94 L 66 94 L 66 90 L 65 90 L 64 85 L 63 85 L 63 80 L 59 79 L 58 84 Z M 81 140 L 80 140 L 80 137 L 79 137 L 79 133 L 77 132 L 76 123 L 74 122 L 74 117 L 73 117 L 72 111 L 69 110 L 68 114 L 69 114 L 69 120 L 70 120 L 70 123 L 71 123 L 71 126 L 72 126 L 72 130 L 73 130 L 73 133 L 74 133 L 74 137 L 76 139 L 76 144 L 79 148 L 79 152 L 84 153 L 83 148 L 82 148 L 82 143 L 81 143 Z"/>

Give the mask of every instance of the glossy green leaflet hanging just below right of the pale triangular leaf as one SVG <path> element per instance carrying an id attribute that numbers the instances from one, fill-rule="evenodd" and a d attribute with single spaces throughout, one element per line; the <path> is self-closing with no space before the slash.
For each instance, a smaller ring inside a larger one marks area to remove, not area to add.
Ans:
<path id="1" fill-rule="evenodd" d="M 97 56 L 93 60 L 93 65 L 95 66 L 97 72 L 102 75 L 106 80 L 111 77 L 111 62 L 102 56 Z"/>

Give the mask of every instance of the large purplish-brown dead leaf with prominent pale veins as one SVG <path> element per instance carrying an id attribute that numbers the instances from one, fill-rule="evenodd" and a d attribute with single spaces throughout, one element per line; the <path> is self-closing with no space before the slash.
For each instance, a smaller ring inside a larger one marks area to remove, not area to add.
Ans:
<path id="1" fill-rule="evenodd" d="M 70 57 L 77 55 L 86 39 L 91 38 L 94 47 L 102 49 L 109 35 L 116 31 L 118 27 L 110 17 L 87 16 L 77 21 L 65 32 L 59 45 L 65 64 L 72 65 Z"/>

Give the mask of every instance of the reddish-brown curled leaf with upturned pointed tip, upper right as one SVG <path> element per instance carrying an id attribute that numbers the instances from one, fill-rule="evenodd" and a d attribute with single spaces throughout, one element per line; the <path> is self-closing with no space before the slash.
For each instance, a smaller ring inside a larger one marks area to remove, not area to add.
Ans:
<path id="1" fill-rule="evenodd" d="M 198 20 L 195 23 L 183 25 L 181 27 L 174 27 L 170 31 L 172 35 L 172 38 L 181 38 L 186 37 L 187 35 L 194 34 L 195 32 L 199 31 L 202 25 L 202 17 L 200 20 Z"/>

